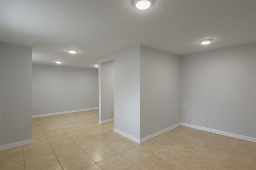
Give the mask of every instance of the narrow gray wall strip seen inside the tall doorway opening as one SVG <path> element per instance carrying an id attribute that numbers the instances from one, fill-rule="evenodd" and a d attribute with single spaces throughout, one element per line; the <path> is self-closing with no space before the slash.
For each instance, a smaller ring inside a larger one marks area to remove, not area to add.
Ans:
<path id="1" fill-rule="evenodd" d="M 101 117 L 100 121 L 114 118 L 114 60 L 100 64 Z"/>

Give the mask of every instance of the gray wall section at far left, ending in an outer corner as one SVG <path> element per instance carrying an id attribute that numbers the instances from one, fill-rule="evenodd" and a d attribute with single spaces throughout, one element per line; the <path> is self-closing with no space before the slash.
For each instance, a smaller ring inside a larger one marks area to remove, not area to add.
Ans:
<path id="1" fill-rule="evenodd" d="M 0 144 L 31 139 L 32 49 L 2 43 Z"/>

